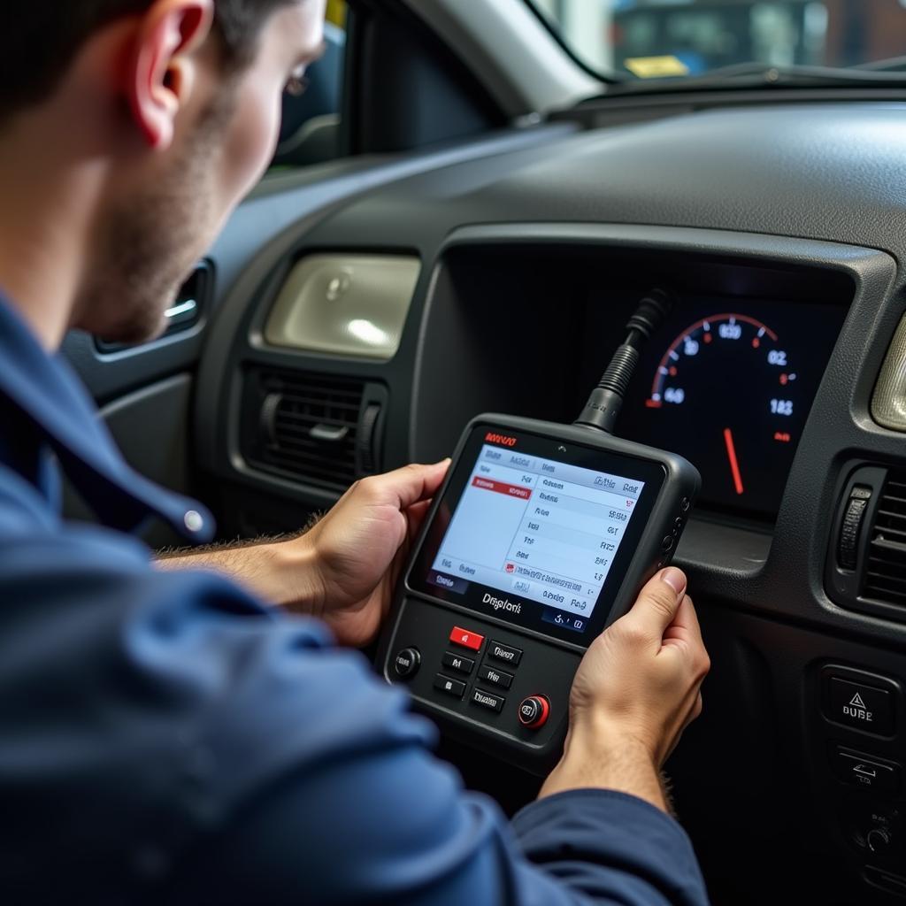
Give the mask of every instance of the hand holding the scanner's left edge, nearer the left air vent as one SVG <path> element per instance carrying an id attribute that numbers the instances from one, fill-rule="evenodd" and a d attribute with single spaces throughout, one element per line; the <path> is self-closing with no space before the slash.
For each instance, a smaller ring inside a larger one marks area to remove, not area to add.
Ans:
<path id="1" fill-rule="evenodd" d="M 306 548 L 313 571 L 300 576 L 303 593 L 288 606 L 321 617 L 342 644 L 370 642 L 448 466 L 445 459 L 362 478 L 311 531 L 284 542 Z"/>

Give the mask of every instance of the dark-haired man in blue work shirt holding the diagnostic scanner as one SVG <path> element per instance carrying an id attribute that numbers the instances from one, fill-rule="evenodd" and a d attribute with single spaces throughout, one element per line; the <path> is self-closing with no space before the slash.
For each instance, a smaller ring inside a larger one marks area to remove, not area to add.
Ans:
<path id="1" fill-rule="evenodd" d="M 660 782 L 708 671 L 679 570 L 593 643 L 563 759 L 509 824 L 353 650 L 446 462 L 357 483 L 291 540 L 160 564 L 129 534 L 213 529 L 125 465 L 56 351 L 73 327 L 159 333 L 265 170 L 323 15 L 0 10 L 0 899 L 705 903 Z M 101 525 L 63 521 L 61 468 Z"/>

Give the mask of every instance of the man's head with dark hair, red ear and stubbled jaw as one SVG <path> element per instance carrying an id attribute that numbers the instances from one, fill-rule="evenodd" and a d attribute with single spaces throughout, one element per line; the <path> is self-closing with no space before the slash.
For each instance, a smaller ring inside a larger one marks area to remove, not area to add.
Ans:
<path id="1" fill-rule="evenodd" d="M 323 6 L 0 5 L 0 147 L 22 150 L 5 160 L 25 174 L 28 149 L 34 157 L 36 139 L 56 135 L 48 166 L 71 170 L 67 185 L 91 208 L 73 326 L 125 341 L 159 331 L 178 284 L 265 169 L 284 87 L 320 47 Z"/>

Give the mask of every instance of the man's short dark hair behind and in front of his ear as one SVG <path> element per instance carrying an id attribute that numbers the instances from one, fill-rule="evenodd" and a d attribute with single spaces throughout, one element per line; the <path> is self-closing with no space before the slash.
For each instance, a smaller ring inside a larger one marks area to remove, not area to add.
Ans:
<path id="1" fill-rule="evenodd" d="M 0 121 L 43 101 L 96 31 L 154 0 L 0 0 Z M 214 30 L 227 65 L 254 55 L 262 26 L 293 0 L 215 0 Z"/>

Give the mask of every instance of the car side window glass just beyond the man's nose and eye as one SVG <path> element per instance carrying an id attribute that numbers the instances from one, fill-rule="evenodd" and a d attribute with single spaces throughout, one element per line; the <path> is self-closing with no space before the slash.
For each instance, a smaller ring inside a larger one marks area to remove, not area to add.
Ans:
<path id="1" fill-rule="evenodd" d="M 329 0 L 323 56 L 308 68 L 301 95 L 284 94 L 283 124 L 271 169 L 304 167 L 338 156 L 346 2 Z"/>

